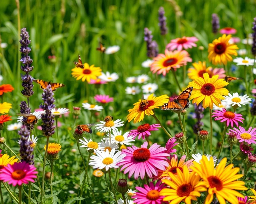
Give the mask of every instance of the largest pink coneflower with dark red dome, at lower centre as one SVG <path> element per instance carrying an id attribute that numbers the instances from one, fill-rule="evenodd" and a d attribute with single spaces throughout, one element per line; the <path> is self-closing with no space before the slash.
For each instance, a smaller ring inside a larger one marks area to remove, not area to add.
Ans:
<path id="1" fill-rule="evenodd" d="M 126 154 L 124 161 L 119 162 L 118 166 L 122 166 L 121 171 L 126 174 L 129 172 L 128 177 L 130 178 L 134 174 L 134 179 L 144 179 L 145 173 L 152 178 L 153 175 L 157 176 L 157 169 L 164 170 L 168 166 L 166 162 L 167 156 L 169 154 L 165 153 L 166 148 L 160 147 L 157 143 L 154 143 L 147 149 L 147 142 L 144 142 L 139 147 L 127 147 L 127 149 L 122 150 L 122 154 Z"/>

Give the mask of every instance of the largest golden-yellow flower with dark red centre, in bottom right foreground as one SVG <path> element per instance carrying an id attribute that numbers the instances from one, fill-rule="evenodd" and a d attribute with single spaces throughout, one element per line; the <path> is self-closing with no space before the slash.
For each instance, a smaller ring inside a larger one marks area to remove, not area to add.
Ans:
<path id="1" fill-rule="evenodd" d="M 242 174 L 237 174 L 238 167 L 233 168 L 233 164 L 225 167 L 227 158 L 223 158 L 219 165 L 214 169 L 213 157 L 210 160 L 205 155 L 200 160 L 201 164 L 194 162 L 195 167 L 191 167 L 194 172 L 203 179 L 203 184 L 208 188 L 208 195 L 205 199 L 205 204 L 210 204 L 214 194 L 220 204 L 225 204 L 226 200 L 229 203 L 238 203 L 237 197 L 244 196 L 236 190 L 247 190 L 244 186 L 245 182 L 238 181 Z"/>

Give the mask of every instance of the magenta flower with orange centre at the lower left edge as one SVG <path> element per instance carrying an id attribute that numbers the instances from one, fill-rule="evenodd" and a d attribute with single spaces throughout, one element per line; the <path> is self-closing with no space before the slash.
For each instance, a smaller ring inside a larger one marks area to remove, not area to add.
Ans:
<path id="1" fill-rule="evenodd" d="M 21 186 L 22 184 L 28 184 L 29 181 L 35 182 L 36 174 L 35 171 L 37 168 L 34 165 L 30 165 L 26 162 L 17 163 L 13 165 L 7 164 L 6 167 L 2 168 L 0 171 L 0 180 L 3 182 L 8 182 L 16 186 L 17 184 Z"/>

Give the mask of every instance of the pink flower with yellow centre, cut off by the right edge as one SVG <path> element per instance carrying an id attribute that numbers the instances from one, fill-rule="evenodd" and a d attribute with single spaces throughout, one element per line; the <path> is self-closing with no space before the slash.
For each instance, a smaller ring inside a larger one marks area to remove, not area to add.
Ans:
<path id="1" fill-rule="evenodd" d="M 251 143 L 256 144 L 256 128 L 252 129 L 252 127 L 250 127 L 248 130 L 245 130 L 241 126 L 239 126 L 238 128 L 239 130 L 237 128 L 234 128 L 234 130 L 230 131 L 237 133 L 237 139 L 239 140 L 239 142 L 247 142 L 249 145 Z"/>

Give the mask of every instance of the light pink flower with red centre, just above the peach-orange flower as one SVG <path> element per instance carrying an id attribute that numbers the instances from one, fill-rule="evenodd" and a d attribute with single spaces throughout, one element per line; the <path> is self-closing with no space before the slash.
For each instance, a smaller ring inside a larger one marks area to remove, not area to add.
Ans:
<path id="1" fill-rule="evenodd" d="M 171 42 L 166 45 L 166 49 L 169 49 L 171 51 L 175 49 L 179 51 L 181 51 L 182 49 L 186 50 L 188 48 L 196 47 L 197 44 L 195 44 L 195 42 L 197 41 L 198 39 L 196 37 L 178 37 L 176 39 L 171 40 Z"/>

